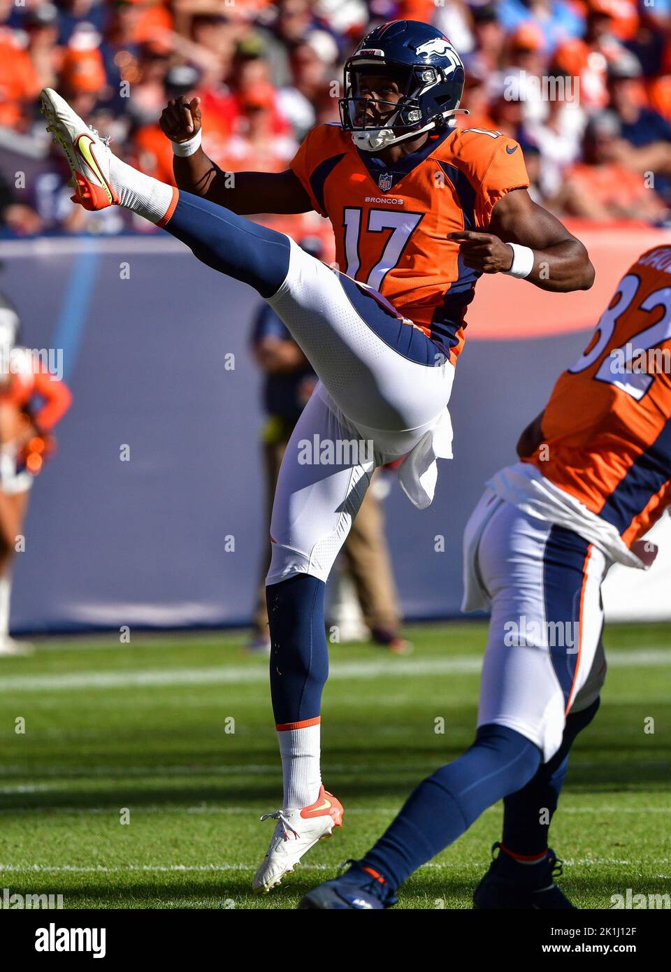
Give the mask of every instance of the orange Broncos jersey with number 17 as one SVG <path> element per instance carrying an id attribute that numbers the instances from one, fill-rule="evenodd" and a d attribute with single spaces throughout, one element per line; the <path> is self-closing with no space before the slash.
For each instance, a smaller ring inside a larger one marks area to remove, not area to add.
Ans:
<path id="1" fill-rule="evenodd" d="M 516 141 L 447 128 L 392 166 L 359 151 L 338 124 L 308 132 L 291 168 L 327 216 L 341 270 L 379 291 L 449 354 L 463 346 L 480 274 L 448 233 L 486 229 L 494 204 L 529 185 Z"/>

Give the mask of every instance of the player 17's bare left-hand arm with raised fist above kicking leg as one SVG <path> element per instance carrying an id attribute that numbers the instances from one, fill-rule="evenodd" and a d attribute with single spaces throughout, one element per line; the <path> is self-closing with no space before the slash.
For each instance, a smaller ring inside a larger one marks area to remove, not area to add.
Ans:
<path id="1" fill-rule="evenodd" d="M 161 130 L 184 144 L 201 129 L 200 98 L 173 99 L 163 109 Z M 198 147 L 190 156 L 175 156 L 175 182 L 179 189 L 210 199 L 248 216 L 252 213 L 307 213 L 313 208 L 308 193 L 291 169 L 285 172 L 222 172 Z"/>

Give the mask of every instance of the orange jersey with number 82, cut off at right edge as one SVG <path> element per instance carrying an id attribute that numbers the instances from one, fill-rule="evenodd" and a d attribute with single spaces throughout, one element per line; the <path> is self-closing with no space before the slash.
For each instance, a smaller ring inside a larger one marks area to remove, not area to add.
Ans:
<path id="1" fill-rule="evenodd" d="M 585 354 L 554 386 L 544 445 L 524 460 L 627 546 L 671 503 L 670 372 L 671 246 L 662 246 L 621 279 Z"/>

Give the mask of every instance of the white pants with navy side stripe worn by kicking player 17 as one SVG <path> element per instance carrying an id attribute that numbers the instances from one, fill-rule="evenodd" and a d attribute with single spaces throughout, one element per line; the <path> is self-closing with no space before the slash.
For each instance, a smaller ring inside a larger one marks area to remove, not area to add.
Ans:
<path id="1" fill-rule="evenodd" d="M 452 457 L 453 365 L 382 298 L 346 283 L 292 244 L 285 283 L 268 301 L 319 375 L 280 470 L 268 584 L 296 573 L 326 579 L 377 466 L 407 456 L 399 479 L 422 507 L 436 458 Z"/>

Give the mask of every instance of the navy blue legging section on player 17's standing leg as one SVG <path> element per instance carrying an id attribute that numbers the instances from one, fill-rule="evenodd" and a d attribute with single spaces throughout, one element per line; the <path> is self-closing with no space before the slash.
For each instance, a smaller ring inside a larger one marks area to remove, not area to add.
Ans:
<path id="1" fill-rule="evenodd" d="M 277 725 L 319 715 L 328 677 L 325 584 L 299 573 L 266 587 L 270 626 L 270 693 Z"/>

